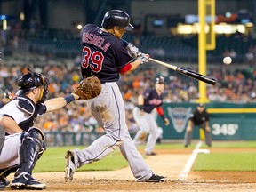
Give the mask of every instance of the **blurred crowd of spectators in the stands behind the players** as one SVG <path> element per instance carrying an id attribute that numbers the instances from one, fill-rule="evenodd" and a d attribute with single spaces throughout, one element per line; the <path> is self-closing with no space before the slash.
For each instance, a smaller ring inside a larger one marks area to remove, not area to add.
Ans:
<path id="1" fill-rule="evenodd" d="M 31 68 L 31 67 L 30 67 Z M 72 92 L 74 85 L 81 80 L 80 67 L 75 65 L 68 69 L 63 63 L 61 66 L 45 65 L 44 67 L 32 66 L 34 71 L 43 73 L 51 82 L 49 97 L 64 96 Z M 232 69 L 232 70 L 231 70 Z M 18 90 L 18 76 L 26 73 L 25 66 L 13 65 L 0 68 L 0 86 L 3 90 L 11 92 L 12 98 Z M 144 89 L 155 84 L 156 76 L 165 76 L 164 102 L 194 102 L 198 99 L 198 82 L 187 76 L 181 76 L 173 71 L 139 69 L 128 76 L 121 76 L 118 84 L 123 92 L 127 124 L 131 132 L 138 129 L 132 117 L 132 109 L 136 105 L 137 97 Z M 212 102 L 250 103 L 255 102 L 256 70 L 254 68 L 211 69 L 207 76 L 215 77 L 218 83 L 214 86 L 207 85 L 207 97 Z M 2 102 L 3 98 L 1 98 Z M 102 128 L 91 116 L 83 100 L 76 100 L 61 108 L 57 112 L 39 117 L 36 126 L 43 128 L 44 132 L 102 132 Z"/>

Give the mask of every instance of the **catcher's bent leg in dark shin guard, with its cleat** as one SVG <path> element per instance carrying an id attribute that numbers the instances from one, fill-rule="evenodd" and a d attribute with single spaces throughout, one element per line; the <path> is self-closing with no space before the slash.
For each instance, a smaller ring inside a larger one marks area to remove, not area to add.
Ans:
<path id="1" fill-rule="evenodd" d="M 20 147 L 20 168 L 14 174 L 12 189 L 44 189 L 46 185 L 32 177 L 36 161 L 45 150 L 44 133 L 36 128 L 29 128 L 22 138 Z"/>

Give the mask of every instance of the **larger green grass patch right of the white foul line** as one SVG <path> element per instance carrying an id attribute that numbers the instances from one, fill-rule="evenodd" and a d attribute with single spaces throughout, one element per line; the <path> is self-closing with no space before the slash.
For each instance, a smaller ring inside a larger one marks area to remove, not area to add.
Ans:
<path id="1" fill-rule="evenodd" d="M 255 153 L 198 154 L 194 171 L 256 171 Z"/>

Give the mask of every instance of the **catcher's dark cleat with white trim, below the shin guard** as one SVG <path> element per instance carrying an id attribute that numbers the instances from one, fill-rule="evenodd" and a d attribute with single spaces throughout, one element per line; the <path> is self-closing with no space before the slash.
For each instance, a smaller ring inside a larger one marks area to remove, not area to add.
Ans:
<path id="1" fill-rule="evenodd" d="M 31 177 L 27 172 L 22 172 L 19 176 L 15 177 L 10 186 L 12 189 L 43 190 L 46 188 L 44 183 Z"/>

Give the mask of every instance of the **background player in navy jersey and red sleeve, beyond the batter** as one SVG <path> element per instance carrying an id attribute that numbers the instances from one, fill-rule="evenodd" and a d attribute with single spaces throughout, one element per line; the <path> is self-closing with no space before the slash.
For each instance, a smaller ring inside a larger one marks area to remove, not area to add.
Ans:
<path id="1" fill-rule="evenodd" d="M 164 124 L 168 125 L 169 120 L 164 116 L 163 99 L 164 99 L 164 77 L 160 76 L 156 78 L 155 88 L 146 89 L 143 94 L 138 97 L 138 106 L 133 109 L 133 117 L 136 123 L 140 126 L 140 130 L 134 137 L 136 145 L 140 144 L 147 139 L 147 145 L 145 148 L 145 155 L 154 156 L 156 153 L 153 151 L 156 146 L 156 140 L 161 135 L 161 130 L 156 124 L 156 118 L 152 113 L 153 109 L 164 120 Z M 148 135 L 149 133 L 149 135 Z"/>

